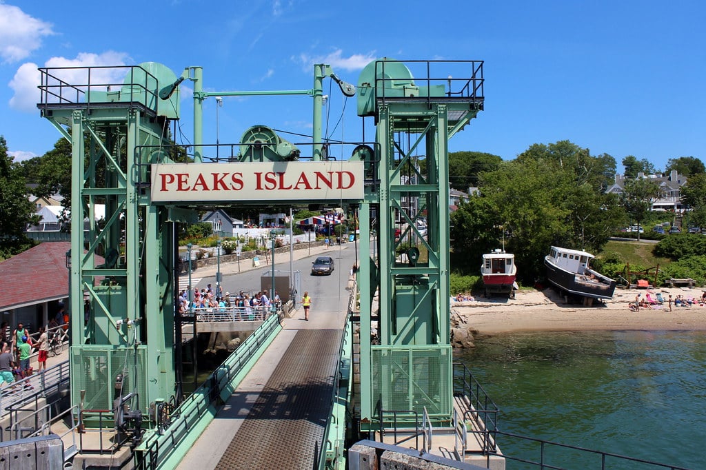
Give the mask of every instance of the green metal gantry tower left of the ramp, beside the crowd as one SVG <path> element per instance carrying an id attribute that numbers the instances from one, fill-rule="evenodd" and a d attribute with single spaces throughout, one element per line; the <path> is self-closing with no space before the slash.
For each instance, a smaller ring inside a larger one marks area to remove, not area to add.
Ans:
<path id="1" fill-rule="evenodd" d="M 71 404 L 90 419 L 132 393 L 129 405 L 146 414 L 177 392 L 170 222 L 180 217 L 150 205 L 140 181 L 148 181 L 154 149 L 169 148 L 178 80 L 156 63 L 40 71 L 37 106 L 72 149 Z"/>

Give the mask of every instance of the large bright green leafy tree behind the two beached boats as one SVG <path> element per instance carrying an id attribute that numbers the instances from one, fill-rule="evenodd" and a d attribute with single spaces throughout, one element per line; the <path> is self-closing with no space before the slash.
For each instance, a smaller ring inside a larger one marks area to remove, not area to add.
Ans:
<path id="1" fill-rule="evenodd" d="M 614 165 L 610 155 L 592 157 L 587 149 L 562 140 L 534 144 L 517 159 L 481 174 L 479 188 L 493 212 L 479 223 L 487 224 L 486 230 L 504 227 L 506 250 L 515 253 L 518 276 L 526 284 L 544 275 L 542 260 L 549 246 L 597 252 L 623 223 L 618 200 L 602 191 Z M 474 233 L 467 228 L 472 224 L 458 225 L 457 234 Z"/>

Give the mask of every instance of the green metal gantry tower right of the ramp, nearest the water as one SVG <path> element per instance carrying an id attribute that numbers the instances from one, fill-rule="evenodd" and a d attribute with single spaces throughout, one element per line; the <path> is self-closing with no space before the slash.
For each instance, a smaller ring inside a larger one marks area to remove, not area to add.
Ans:
<path id="1" fill-rule="evenodd" d="M 449 64 L 465 74 L 434 76 Z M 379 150 L 376 188 L 359 211 L 361 234 L 378 234 L 361 236 L 361 253 L 378 254 L 361 260 L 358 277 L 361 430 L 386 426 L 384 417 L 376 424 L 381 410 L 421 416 L 426 408 L 433 421 L 448 422 L 448 140 L 483 109 L 482 62 L 374 61 L 361 73 L 358 94 L 359 116 L 375 119 Z"/>

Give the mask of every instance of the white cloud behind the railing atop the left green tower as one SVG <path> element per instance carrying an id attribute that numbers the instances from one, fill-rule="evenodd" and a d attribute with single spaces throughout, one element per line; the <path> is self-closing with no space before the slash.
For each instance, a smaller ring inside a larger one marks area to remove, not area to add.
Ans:
<path id="1" fill-rule="evenodd" d="M 52 75 L 56 79 L 72 85 L 85 85 L 88 83 L 87 67 L 116 66 L 116 68 L 93 69 L 90 76 L 91 83 L 122 83 L 123 77 L 128 73 L 128 69 L 119 66 L 124 66 L 128 59 L 128 55 L 124 52 L 108 51 L 102 54 L 82 52 L 76 56 L 76 59 L 52 57 L 44 66 L 49 68 L 80 67 L 52 71 Z M 36 111 L 37 103 L 40 102 L 40 90 L 37 87 L 41 82 L 40 72 L 37 68 L 37 64 L 28 62 L 17 69 L 15 76 L 9 83 L 10 88 L 15 91 L 10 99 L 11 108 L 26 112 Z M 52 86 L 52 92 L 58 95 L 59 87 L 54 87 L 54 85 L 59 85 L 59 81 L 56 79 L 52 79 L 49 85 Z M 62 92 L 64 92 L 64 97 L 67 100 L 76 100 L 76 90 L 64 88 Z"/>

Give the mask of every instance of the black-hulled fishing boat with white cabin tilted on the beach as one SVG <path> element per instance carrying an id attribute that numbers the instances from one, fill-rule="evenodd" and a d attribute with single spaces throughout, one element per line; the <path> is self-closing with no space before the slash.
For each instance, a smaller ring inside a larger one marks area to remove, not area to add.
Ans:
<path id="1" fill-rule="evenodd" d="M 591 253 L 552 246 L 544 257 L 546 277 L 551 284 L 585 299 L 612 299 L 616 282 L 590 267 Z M 589 302 L 590 303 L 590 302 Z"/>

